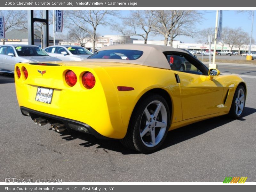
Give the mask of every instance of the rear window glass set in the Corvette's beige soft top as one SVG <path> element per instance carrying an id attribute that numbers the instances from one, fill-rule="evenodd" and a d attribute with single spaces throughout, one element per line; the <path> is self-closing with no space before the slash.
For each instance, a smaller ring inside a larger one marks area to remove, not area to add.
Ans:
<path id="1" fill-rule="evenodd" d="M 87 59 L 121 59 L 121 60 L 136 60 L 141 57 L 143 51 L 126 50 L 126 49 L 113 49 L 103 50 L 94 53 Z"/>

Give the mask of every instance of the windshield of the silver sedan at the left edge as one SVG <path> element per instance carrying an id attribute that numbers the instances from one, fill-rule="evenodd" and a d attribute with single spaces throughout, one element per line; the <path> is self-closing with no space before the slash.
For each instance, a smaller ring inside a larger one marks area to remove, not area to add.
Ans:
<path id="1" fill-rule="evenodd" d="M 30 47 L 30 46 L 15 46 L 16 52 L 19 56 L 49 56 L 40 47 Z"/>

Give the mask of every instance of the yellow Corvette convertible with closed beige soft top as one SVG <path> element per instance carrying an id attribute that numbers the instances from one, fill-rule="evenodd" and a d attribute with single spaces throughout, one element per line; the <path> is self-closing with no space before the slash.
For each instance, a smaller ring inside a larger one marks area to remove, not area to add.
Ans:
<path id="1" fill-rule="evenodd" d="M 240 117 L 246 98 L 239 76 L 149 44 L 103 47 L 78 62 L 17 63 L 15 85 L 21 113 L 36 124 L 120 139 L 142 153 L 159 149 L 170 130 Z"/>

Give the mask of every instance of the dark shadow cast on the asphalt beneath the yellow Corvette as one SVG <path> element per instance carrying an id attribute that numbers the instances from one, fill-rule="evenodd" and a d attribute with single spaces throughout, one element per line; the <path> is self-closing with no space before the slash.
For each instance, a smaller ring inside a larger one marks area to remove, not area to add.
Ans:
<path id="1" fill-rule="evenodd" d="M 245 121 L 245 119 L 243 117 L 251 115 L 255 112 L 256 112 L 255 108 L 245 107 L 244 115 L 237 120 Z M 201 135 L 205 132 L 211 131 L 212 129 L 215 129 L 221 125 L 227 124 L 234 120 L 235 119 L 231 119 L 225 115 L 225 116 L 214 117 L 212 119 L 200 121 L 200 122 L 197 122 L 194 124 L 190 124 L 190 125 L 181 127 L 179 129 L 175 129 L 173 131 L 168 132 L 167 137 L 164 141 L 164 144 L 162 145 L 162 147 L 159 150 L 171 147 L 172 145 L 175 145 L 182 141 L 191 139 L 191 138 Z M 212 122 L 214 122 L 214 123 L 212 123 Z M 65 139 L 67 141 L 75 140 L 75 139 L 84 140 L 85 142 L 80 143 L 79 144 L 80 146 L 84 146 L 84 147 L 97 146 L 97 147 L 95 147 L 95 149 L 102 148 L 107 153 L 108 153 L 107 150 L 111 150 L 111 151 L 116 151 L 116 152 L 122 153 L 123 155 L 139 154 L 139 152 L 125 148 L 120 143 L 119 140 L 97 139 L 93 135 L 90 135 L 90 134 L 79 133 L 79 132 L 70 133 L 67 130 L 60 132 L 60 134 L 61 134 L 60 136 L 62 136 L 62 139 Z"/>

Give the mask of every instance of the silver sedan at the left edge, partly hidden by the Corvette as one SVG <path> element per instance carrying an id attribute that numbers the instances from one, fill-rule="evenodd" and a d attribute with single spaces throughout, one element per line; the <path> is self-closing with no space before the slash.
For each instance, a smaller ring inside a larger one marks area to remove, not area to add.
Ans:
<path id="1" fill-rule="evenodd" d="M 0 71 L 14 73 L 16 63 L 60 61 L 36 45 L 8 44 L 0 46 Z"/>

